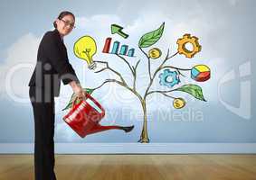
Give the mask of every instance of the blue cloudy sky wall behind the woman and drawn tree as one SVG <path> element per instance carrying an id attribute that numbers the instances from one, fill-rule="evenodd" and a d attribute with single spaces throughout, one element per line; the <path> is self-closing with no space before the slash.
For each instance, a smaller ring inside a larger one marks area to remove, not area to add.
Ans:
<path id="1" fill-rule="evenodd" d="M 148 100 L 148 131 L 153 142 L 255 142 L 255 5 L 252 0 L 2 3 L 0 14 L 5 18 L 2 19 L 0 34 L 0 80 L 3 82 L 0 85 L 0 142 L 30 142 L 33 139 L 33 113 L 28 101 L 27 84 L 43 33 L 52 30 L 52 22 L 62 10 L 69 10 L 76 15 L 77 28 L 64 41 L 71 64 L 84 86 L 100 85 L 104 79 L 113 75 L 95 75 L 73 55 L 73 43 L 82 35 L 90 34 L 97 41 L 99 52 L 94 58 L 107 60 L 109 65 L 123 72 L 129 83 L 131 75 L 123 62 L 115 56 L 100 52 L 107 37 L 137 48 L 137 41 L 144 33 L 165 22 L 163 37 L 156 44 L 164 54 L 168 48 L 171 53 L 175 52 L 175 41 L 185 33 L 199 38 L 203 47 L 199 54 L 192 59 L 178 56 L 171 63 L 178 67 L 193 67 L 196 64 L 211 67 L 212 78 L 207 83 L 198 84 L 204 90 L 207 103 L 194 101 L 185 95 L 187 106 L 180 112 L 174 110 L 170 99 L 160 94 L 152 96 Z M 121 24 L 129 38 L 124 40 L 111 35 L 111 23 Z M 137 58 L 128 58 L 132 65 L 137 59 L 144 58 L 138 50 L 136 53 Z M 145 59 L 138 67 L 141 92 L 147 85 L 146 65 Z M 156 66 L 157 62 L 153 67 Z M 242 68 L 248 76 L 240 76 Z M 229 74 L 232 72 L 234 78 L 222 84 L 224 78 L 231 78 Z M 192 82 L 189 78 L 182 80 L 185 83 Z M 248 82 L 250 88 L 244 91 L 241 87 Z M 157 85 L 156 81 L 153 87 L 157 88 Z M 106 85 L 93 95 L 107 109 L 102 124 L 135 124 L 135 130 L 129 134 L 111 130 L 80 139 L 62 122 L 65 112 L 61 110 L 70 95 L 71 87 L 62 85 L 61 97 L 56 98 L 55 138 L 58 141 L 136 142 L 139 138 L 141 107 L 137 99 L 123 88 Z M 247 102 L 244 103 L 245 100 Z"/>

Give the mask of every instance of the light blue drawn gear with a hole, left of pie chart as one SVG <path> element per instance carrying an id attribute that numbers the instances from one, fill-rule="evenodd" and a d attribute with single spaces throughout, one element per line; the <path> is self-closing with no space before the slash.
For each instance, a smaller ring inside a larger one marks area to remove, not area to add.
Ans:
<path id="1" fill-rule="evenodd" d="M 172 77 L 172 81 L 167 80 L 169 76 Z M 159 75 L 159 78 L 160 78 L 160 81 L 159 81 L 160 85 L 165 85 L 169 88 L 180 83 L 180 79 L 177 72 L 170 71 L 169 69 L 165 69 L 164 72 Z"/>

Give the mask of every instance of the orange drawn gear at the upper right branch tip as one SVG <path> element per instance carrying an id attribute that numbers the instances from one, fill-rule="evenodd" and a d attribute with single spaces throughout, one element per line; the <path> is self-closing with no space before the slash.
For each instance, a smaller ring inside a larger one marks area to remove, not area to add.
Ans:
<path id="1" fill-rule="evenodd" d="M 186 58 L 193 58 L 194 55 L 202 49 L 198 43 L 198 38 L 195 36 L 191 37 L 190 34 L 185 34 L 183 38 L 178 39 L 176 43 L 178 44 L 178 53 L 184 54 Z M 186 43 L 191 43 L 193 45 L 192 51 L 185 48 Z"/>

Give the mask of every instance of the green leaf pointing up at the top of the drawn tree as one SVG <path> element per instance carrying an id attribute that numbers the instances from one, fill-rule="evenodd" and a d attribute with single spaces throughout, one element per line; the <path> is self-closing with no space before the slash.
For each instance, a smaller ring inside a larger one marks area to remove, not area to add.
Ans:
<path id="1" fill-rule="evenodd" d="M 162 25 L 157 30 L 150 31 L 144 34 L 138 42 L 138 47 L 147 48 L 155 44 L 162 37 L 164 28 L 165 28 L 165 23 L 162 23 Z"/>

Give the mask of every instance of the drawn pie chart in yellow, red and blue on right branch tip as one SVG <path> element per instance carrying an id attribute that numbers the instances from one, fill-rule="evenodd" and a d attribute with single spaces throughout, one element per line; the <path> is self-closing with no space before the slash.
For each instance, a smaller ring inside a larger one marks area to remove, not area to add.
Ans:
<path id="1" fill-rule="evenodd" d="M 211 70 L 205 65 L 196 65 L 191 69 L 191 78 L 198 82 L 207 81 L 211 77 Z"/>

